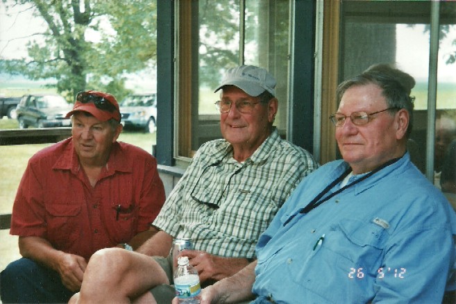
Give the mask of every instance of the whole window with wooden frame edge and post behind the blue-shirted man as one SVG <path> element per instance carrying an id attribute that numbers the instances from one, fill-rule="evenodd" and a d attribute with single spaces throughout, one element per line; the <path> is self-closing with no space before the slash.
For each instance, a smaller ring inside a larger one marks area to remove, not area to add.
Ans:
<path id="1" fill-rule="evenodd" d="M 440 187 L 442 159 L 456 139 L 456 3 L 352 0 L 327 3 L 324 12 L 323 52 L 337 52 L 337 56 L 323 57 L 327 60 L 323 67 L 331 69 L 323 69 L 322 78 L 324 81 L 330 78 L 328 71 L 336 71 L 337 81 L 327 81 L 323 92 L 334 92 L 338 83 L 379 62 L 396 62 L 411 74 L 416 99 L 409 152 L 423 174 Z M 334 16 L 340 20 L 330 19 Z M 337 31 L 339 37 L 331 31 Z M 323 100 L 330 105 L 322 113 L 322 130 L 326 117 L 337 109 L 335 96 L 326 94 Z M 331 131 L 327 128 L 326 132 Z M 323 151 L 335 151 L 335 140 L 325 140 L 322 137 Z M 326 155 L 326 161 L 336 158 L 335 154 Z M 454 169 L 453 156 L 453 191 Z"/>

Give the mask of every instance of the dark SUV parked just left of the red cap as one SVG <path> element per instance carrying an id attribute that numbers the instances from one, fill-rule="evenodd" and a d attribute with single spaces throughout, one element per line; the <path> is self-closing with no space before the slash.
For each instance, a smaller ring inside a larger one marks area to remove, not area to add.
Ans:
<path id="1" fill-rule="evenodd" d="M 16 108 L 19 128 L 70 126 L 71 121 L 65 115 L 71 109 L 72 106 L 60 95 L 24 95 Z"/>

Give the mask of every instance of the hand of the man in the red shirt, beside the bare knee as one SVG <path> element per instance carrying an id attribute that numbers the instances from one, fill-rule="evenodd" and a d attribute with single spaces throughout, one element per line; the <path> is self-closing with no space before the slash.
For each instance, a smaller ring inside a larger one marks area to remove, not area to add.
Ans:
<path id="1" fill-rule="evenodd" d="M 83 257 L 62 252 L 58 258 L 56 270 L 60 274 L 63 285 L 72 292 L 78 292 L 83 282 L 85 267 L 87 262 Z"/>

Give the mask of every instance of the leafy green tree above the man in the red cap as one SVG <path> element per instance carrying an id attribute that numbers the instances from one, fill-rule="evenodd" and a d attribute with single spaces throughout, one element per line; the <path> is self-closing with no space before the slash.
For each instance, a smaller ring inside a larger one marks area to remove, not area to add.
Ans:
<path id="1" fill-rule="evenodd" d="M 33 80 L 56 78 L 56 89 L 68 99 L 87 89 L 107 90 L 121 99 L 128 91 L 125 74 L 154 65 L 156 6 L 153 0 L 2 0 L 27 4 L 48 29 L 44 44 L 27 45 L 31 60 L 3 62 L 6 71 Z M 88 31 L 100 40 L 86 39 Z"/>

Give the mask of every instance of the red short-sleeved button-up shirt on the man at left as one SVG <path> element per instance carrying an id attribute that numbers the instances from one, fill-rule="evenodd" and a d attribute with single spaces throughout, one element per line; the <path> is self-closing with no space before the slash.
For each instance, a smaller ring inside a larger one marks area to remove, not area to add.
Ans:
<path id="1" fill-rule="evenodd" d="M 163 183 L 149 153 L 116 142 L 92 187 L 69 138 L 29 160 L 10 234 L 43 237 L 56 249 L 88 260 L 95 251 L 148 230 L 163 203 Z"/>

